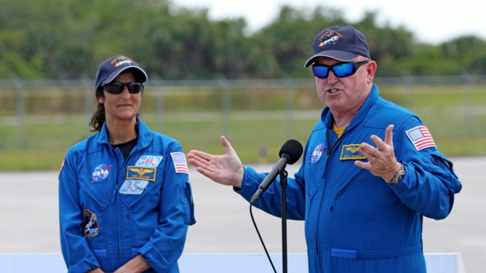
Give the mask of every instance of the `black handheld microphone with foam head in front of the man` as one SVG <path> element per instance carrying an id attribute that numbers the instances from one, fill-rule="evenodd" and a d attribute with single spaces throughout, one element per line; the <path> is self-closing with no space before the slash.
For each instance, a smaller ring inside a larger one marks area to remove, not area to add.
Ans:
<path id="1" fill-rule="evenodd" d="M 267 177 L 263 179 L 263 182 L 261 182 L 258 190 L 252 196 L 250 204 L 253 205 L 260 198 L 260 195 L 264 191 L 267 191 L 267 188 L 270 186 L 273 180 L 275 180 L 277 175 L 279 175 L 283 169 L 285 169 L 287 164 L 294 164 L 297 160 L 299 160 L 303 150 L 302 144 L 295 139 L 287 140 L 282 145 L 282 148 L 280 148 L 280 152 L 278 153 L 280 160 L 278 160 L 277 164 L 273 166 L 272 171 L 270 171 Z"/>

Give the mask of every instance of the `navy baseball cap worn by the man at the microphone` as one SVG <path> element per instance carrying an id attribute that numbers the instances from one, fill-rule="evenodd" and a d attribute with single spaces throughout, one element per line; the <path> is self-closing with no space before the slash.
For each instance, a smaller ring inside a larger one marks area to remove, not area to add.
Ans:
<path id="1" fill-rule="evenodd" d="M 310 66 L 319 56 L 341 61 L 350 61 L 360 55 L 371 59 L 365 36 L 352 26 L 339 25 L 324 29 L 314 38 L 312 48 L 314 55 L 305 62 L 304 67 Z"/>

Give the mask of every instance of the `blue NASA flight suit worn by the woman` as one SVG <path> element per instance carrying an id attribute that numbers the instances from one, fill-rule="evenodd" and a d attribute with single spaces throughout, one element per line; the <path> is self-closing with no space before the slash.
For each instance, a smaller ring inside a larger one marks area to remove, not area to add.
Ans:
<path id="1" fill-rule="evenodd" d="M 138 120 L 126 159 L 102 130 L 69 149 L 59 174 L 61 249 L 68 272 L 113 272 L 137 255 L 145 272 L 179 272 L 195 223 L 181 145 Z"/>

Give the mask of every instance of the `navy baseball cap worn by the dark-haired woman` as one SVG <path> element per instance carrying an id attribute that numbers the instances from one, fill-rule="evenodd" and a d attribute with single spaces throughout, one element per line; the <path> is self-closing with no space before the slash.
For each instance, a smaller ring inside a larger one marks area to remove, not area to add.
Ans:
<path id="1" fill-rule="evenodd" d="M 134 72 L 137 82 L 144 83 L 147 81 L 147 73 L 143 71 L 134 60 L 117 55 L 106 59 L 100 64 L 98 71 L 96 72 L 95 91 L 105 83 L 112 82 L 120 73 L 131 69 Z"/>

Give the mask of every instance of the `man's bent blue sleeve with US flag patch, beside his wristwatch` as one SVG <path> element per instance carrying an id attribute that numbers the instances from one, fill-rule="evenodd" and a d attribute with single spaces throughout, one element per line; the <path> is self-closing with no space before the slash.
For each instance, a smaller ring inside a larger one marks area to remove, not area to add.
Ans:
<path id="1" fill-rule="evenodd" d="M 405 167 L 405 177 L 390 187 L 408 207 L 439 220 L 451 212 L 454 194 L 460 192 L 462 185 L 452 162 L 437 150 L 432 136 L 429 141 L 433 143 L 429 145 L 419 142 L 428 133 L 418 118 L 394 132 L 395 156 Z"/>

